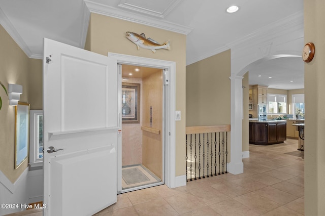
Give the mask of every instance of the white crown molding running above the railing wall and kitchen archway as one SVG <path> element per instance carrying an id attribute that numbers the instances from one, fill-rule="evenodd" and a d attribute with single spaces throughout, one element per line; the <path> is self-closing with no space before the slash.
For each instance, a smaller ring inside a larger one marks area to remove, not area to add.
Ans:
<path id="1" fill-rule="evenodd" d="M 266 25 L 258 30 L 247 34 L 244 37 L 239 38 L 233 42 L 226 44 L 223 47 L 220 47 L 212 52 L 203 53 L 201 55 L 196 56 L 192 59 L 186 60 L 186 65 L 201 61 L 205 58 L 210 56 L 219 54 L 229 49 L 240 49 L 245 47 L 251 47 L 252 45 L 256 45 L 256 41 L 268 41 L 272 40 L 273 38 L 287 34 L 287 32 L 291 32 L 296 29 L 303 29 L 304 28 L 304 13 L 303 11 L 299 11 L 293 15 L 285 17 L 284 19 L 273 22 L 269 25 Z"/>

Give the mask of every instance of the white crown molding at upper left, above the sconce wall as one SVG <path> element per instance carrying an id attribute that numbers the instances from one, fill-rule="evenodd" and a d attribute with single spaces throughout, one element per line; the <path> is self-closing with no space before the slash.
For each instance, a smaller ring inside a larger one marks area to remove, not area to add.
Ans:
<path id="1" fill-rule="evenodd" d="M 15 40 L 16 44 L 22 49 L 22 51 L 30 57 L 32 55 L 31 51 L 29 50 L 28 46 L 26 45 L 23 38 L 20 36 L 18 31 L 12 25 L 4 11 L 0 8 L 0 24 L 5 28 L 8 34 Z"/>

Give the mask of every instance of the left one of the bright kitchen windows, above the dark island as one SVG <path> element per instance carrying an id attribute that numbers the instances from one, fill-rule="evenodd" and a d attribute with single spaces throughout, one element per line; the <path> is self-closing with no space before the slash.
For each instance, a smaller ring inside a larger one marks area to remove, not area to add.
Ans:
<path id="1" fill-rule="evenodd" d="M 268 114 L 286 113 L 286 95 L 268 94 Z"/>

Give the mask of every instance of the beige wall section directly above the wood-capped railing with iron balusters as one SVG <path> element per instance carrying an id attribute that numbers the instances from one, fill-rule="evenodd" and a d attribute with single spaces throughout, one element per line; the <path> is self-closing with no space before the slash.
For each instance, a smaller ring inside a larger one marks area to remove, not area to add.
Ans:
<path id="1" fill-rule="evenodd" d="M 186 126 L 230 124 L 229 77 L 230 50 L 186 66 Z"/>

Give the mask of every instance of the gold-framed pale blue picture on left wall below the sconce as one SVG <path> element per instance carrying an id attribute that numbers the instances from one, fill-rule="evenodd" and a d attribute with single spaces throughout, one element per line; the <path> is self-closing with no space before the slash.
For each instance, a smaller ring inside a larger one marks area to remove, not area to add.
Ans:
<path id="1" fill-rule="evenodd" d="M 28 157 L 29 104 L 18 102 L 15 106 L 15 169 Z"/>

